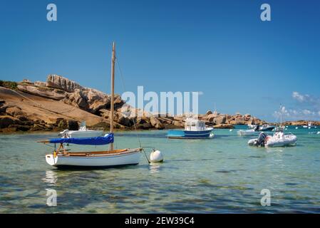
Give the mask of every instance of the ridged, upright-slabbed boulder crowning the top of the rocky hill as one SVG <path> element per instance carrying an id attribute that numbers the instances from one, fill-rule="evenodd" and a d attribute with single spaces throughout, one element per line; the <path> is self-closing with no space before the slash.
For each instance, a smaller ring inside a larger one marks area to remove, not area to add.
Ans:
<path id="1" fill-rule="evenodd" d="M 69 93 L 74 92 L 74 90 L 76 90 L 77 88 L 83 89 L 83 87 L 75 81 L 71 81 L 68 78 L 64 78 L 63 76 L 58 76 L 56 74 L 48 75 L 46 86 L 65 90 Z"/>

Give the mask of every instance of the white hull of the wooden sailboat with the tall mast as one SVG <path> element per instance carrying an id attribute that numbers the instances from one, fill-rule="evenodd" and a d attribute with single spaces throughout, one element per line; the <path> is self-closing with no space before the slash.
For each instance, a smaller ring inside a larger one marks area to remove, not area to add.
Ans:
<path id="1" fill-rule="evenodd" d="M 105 155 L 66 156 L 46 155 L 46 162 L 55 167 L 114 167 L 119 165 L 138 165 L 140 150 L 133 149 Z"/>

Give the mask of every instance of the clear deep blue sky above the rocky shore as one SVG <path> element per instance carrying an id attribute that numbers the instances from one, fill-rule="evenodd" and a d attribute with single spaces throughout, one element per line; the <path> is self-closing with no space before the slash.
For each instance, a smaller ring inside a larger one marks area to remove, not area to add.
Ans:
<path id="1" fill-rule="evenodd" d="M 58 21 L 46 20 L 49 3 Z M 272 21 L 260 20 L 263 3 Z M 200 113 L 215 104 L 277 120 L 282 103 L 288 120 L 319 120 L 319 9 L 316 0 L 0 0 L 0 79 L 56 73 L 109 92 L 116 41 L 118 93 L 202 91 Z"/>

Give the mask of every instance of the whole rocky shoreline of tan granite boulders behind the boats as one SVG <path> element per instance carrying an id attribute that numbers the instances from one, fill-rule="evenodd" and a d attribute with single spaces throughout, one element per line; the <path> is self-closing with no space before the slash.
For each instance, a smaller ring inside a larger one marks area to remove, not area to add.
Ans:
<path id="1" fill-rule="evenodd" d="M 93 88 L 85 88 L 75 81 L 58 75 L 49 75 L 46 82 L 24 80 L 13 88 L 0 87 L 0 130 L 63 130 L 77 129 L 86 120 L 88 127 L 109 128 L 110 95 Z M 16 89 L 13 91 L 12 89 Z M 119 129 L 184 128 L 185 116 L 158 116 L 125 105 L 115 95 L 114 125 Z M 136 117 L 137 113 L 142 113 Z M 227 115 L 208 110 L 199 115 L 206 125 L 232 128 L 234 124 L 262 124 L 264 121 L 249 114 Z"/>

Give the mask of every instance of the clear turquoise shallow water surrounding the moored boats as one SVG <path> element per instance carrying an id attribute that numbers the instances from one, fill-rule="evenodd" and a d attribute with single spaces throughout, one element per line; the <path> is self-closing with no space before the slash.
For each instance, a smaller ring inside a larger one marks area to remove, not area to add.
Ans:
<path id="1" fill-rule="evenodd" d="M 168 140 L 166 131 L 137 132 L 143 146 L 161 150 L 165 162 L 106 170 L 56 170 L 36 140 L 56 133 L 0 135 L 0 213 L 272 213 L 320 212 L 318 129 L 289 129 L 296 147 L 248 147 L 233 130 L 208 140 Z M 115 145 L 137 147 L 134 132 Z M 71 147 L 76 149 L 76 147 Z M 100 147 L 93 147 L 94 150 Z M 48 207 L 47 190 L 57 206 Z M 271 206 L 262 207 L 262 189 Z"/>

